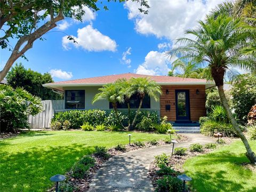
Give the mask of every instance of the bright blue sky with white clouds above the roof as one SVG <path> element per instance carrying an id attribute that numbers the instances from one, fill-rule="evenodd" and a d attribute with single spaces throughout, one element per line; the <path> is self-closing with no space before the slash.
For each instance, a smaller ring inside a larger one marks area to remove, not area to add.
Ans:
<path id="1" fill-rule="evenodd" d="M 166 75 L 171 62 L 164 52 L 185 29 L 196 26 L 220 1 L 149 1 L 148 15 L 138 4 L 107 3 L 109 11 L 92 13 L 87 7 L 83 22 L 60 21 L 57 28 L 37 40 L 26 52 L 26 68 L 49 72 L 54 81 L 93 76 L 139 73 Z M 53 32 L 53 31 L 63 31 Z M 77 39 L 73 44 L 66 35 Z M 11 41 L 14 44 L 15 40 Z M 1 50 L 1 68 L 11 52 Z"/>

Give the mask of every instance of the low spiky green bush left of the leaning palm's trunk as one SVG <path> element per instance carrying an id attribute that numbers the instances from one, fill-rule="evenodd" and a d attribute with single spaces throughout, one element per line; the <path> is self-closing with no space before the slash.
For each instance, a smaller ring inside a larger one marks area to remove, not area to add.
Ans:
<path id="1" fill-rule="evenodd" d="M 214 132 L 222 133 L 223 137 L 237 136 L 237 133 L 231 124 L 208 120 L 201 126 L 201 133 L 205 135 L 213 136 Z"/>

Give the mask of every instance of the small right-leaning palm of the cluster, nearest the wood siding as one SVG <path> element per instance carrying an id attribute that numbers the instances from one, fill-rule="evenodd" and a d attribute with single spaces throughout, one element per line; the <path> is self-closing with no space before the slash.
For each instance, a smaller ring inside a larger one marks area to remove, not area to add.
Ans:
<path id="1" fill-rule="evenodd" d="M 157 85 L 155 81 L 150 80 L 146 77 L 138 77 L 138 78 L 131 78 L 131 92 L 133 94 L 137 94 L 140 99 L 140 104 L 137 110 L 137 113 L 135 114 L 135 117 L 132 121 L 131 127 L 134 126 L 136 118 L 139 114 L 139 111 L 142 106 L 143 99 L 145 98 L 145 95 L 149 95 L 150 98 L 155 99 L 155 101 L 159 100 L 159 95 L 162 94 L 161 86 Z"/>

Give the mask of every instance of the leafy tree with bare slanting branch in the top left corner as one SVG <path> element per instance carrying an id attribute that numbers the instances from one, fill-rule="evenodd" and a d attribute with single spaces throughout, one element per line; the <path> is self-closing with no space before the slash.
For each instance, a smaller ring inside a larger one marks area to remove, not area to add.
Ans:
<path id="1" fill-rule="evenodd" d="M 110 2 L 108 0 L 107 2 Z M 118 0 L 113 0 L 117 2 Z M 147 14 L 149 5 L 146 0 L 131 0 L 139 2 L 139 11 Z M 4 79 L 13 63 L 19 58 L 26 58 L 24 53 L 33 47 L 36 39 L 43 40 L 42 36 L 57 26 L 57 22 L 65 18 L 74 18 L 82 21 L 86 14 L 84 7 L 92 11 L 100 8 L 97 0 L 4 0 L 0 1 L 0 46 L 2 49 L 9 49 L 12 53 L 0 71 L 0 81 Z M 118 2 L 125 2 L 119 0 Z M 106 5 L 103 9 L 108 10 Z M 44 22 L 50 15 L 50 20 Z M 15 46 L 9 44 L 10 39 L 17 38 Z M 68 39 L 75 42 L 75 39 L 68 36 Z"/>

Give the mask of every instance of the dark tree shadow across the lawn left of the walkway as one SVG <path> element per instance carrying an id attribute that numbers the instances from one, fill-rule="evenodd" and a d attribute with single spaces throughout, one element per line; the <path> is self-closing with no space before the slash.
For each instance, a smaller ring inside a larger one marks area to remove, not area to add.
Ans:
<path id="1" fill-rule="evenodd" d="M 46 141 L 47 142 L 47 141 Z M 32 148 L 25 153 L 1 154 L 1 191 L 46 191 L 52 175 L 65 174 L 93 147 L 73 144 L 68 147 Z"/>

